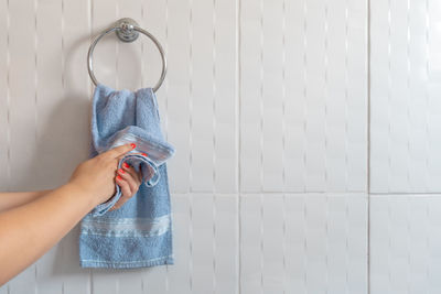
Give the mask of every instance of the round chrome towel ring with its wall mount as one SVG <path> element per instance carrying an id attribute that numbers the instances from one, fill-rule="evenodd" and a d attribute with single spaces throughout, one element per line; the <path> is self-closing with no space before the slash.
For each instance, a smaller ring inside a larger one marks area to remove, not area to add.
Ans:
<path id="1" fill-rule="evenodd" d="M 94 54 L 95 45 L 98 43 L 99 40 L 101 40 L 103 36 L 107 35 L 114 31 L 116 31 L 117 36 L 122 42 L 126 42 L 126 43 L 133 42 L 139 36 L 138 32 L 140 32 L 140 33 L 147 35 L 148 37 L 150 37 L 153 41 L 153 43 L 157 45 L 159 52 L 161 53 L 161 59 L 162 59 L 161 77 L 160 77 L 159 81 L 157 83 L 157 85 L 154 85 L 154 87 L 153 87 L 153 91 L 157 91 L 161 87 L 162 83 L 164 81 L 165 73 L 166 73 L 166 59 L 165 59 L 164 50 L 162 48 L 159 41 L 151 33 L 139 28 L 138 23 L 135 20 L 128 19 L 128 18 L 120 19 L 119 21 L 117 21 L 114 26 L 107 29 L 106 31 L 104 31 L 99 35 L 97 35 L 90 44 L 89 51 L 87 53 L 87 69 L 89 72 L 89 76 L 90 76 L 92 80 L 94 81 L 95 86 L 97 86 L 99 84 L 95 77 L 94 65 L 93 65 L 93 54 Z"/>

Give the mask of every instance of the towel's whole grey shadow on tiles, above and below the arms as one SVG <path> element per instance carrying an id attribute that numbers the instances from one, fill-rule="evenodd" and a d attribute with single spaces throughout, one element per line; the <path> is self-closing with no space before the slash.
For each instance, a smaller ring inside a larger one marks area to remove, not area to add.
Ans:
<path id="1" fill-rule="evenodd" d="M 112 42 L 116 41 L 112 40 Z M 78 75 L 78 70 L 75 72 L 73 65 L 76 65 L 74 55 L 78 55 L 75 57 L 77 57 L 76 61 L 82 59 L 82 63 L 84 61 L 84 72 L 80 75 L 85 77 L 85 79 L 79 80 L 86 81 L 87 78 L 92 83 L 86 67 L 89 43 L 88 36 L 77 40 L 65 52 L 65 95 L 51 105 L 51 111 L 45 111 L 44 117 L 41 116 L 37 142 L 33 148 L 34 153 L 30 155 L 31 161 L 25 167 L 28 171 L 35 171 L 35 173 L 25 173 L 23 177 L 15 178 L 14 184 L 18 189 L 56 188 L 67 183 L 75 167 L 88 159 L 92 94 L 87 94 L 89 88 L 85 90 L 84 87 L 90 84 L 75 85 L 75 83 L 78 84 L 78 77 L 73 77 Z M 56 59 L 52 58 L 51 62 Z M 44 64 L 41 66 L 45 67 Z M 56 83 L 60 83 L 60 80 Z M 78 91 L 78 89 L 82 90 Z M 44 98 L 42 97 L 41 100 L 44 101 Z M 54 282 L 53 279 L 62 281 L 66 276 L 88 275 L 90 273 L 89 269 L 79 266 L 78 237 L 79 226 L 76 225 L 57 246 L 35 262 L 39 279 L 51 279 Z M 147 270 L 149 269 L 94 269 L 93 271 L 111 273 Z"/>

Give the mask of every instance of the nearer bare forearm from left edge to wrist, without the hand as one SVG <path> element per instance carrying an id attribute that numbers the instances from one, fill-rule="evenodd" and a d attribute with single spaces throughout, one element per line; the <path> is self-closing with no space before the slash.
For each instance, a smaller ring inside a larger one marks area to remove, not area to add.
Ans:
<path id="1" fill-rule="evenodd" d="M 93 195 L 66 184 L 0 214 L 0 285 L 56 244 L 96 202 Z"/>

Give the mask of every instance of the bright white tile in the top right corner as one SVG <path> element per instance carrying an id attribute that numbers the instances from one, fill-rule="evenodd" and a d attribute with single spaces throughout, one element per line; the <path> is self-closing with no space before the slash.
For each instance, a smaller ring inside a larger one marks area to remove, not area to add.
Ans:
<path id="1" fill-rule="evenodd" d="M 441 2 L 372 1 L 372 190 L 441 192 Z"/>

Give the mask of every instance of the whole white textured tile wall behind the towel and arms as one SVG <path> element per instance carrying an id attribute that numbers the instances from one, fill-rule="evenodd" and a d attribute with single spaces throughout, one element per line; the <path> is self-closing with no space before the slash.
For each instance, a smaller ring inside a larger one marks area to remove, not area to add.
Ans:
<path id="1" fill-rule="evenodd" d="M 1 294 L 440 293 L 439 1 L 2 0 L 1 190 L 87 157 L 87 48 L 123 17 L 169 59 L 175 264 L 80 269 L 75 228 Z M 109 36 L 95 67 L 137 89 L 160 58 Z"/>

